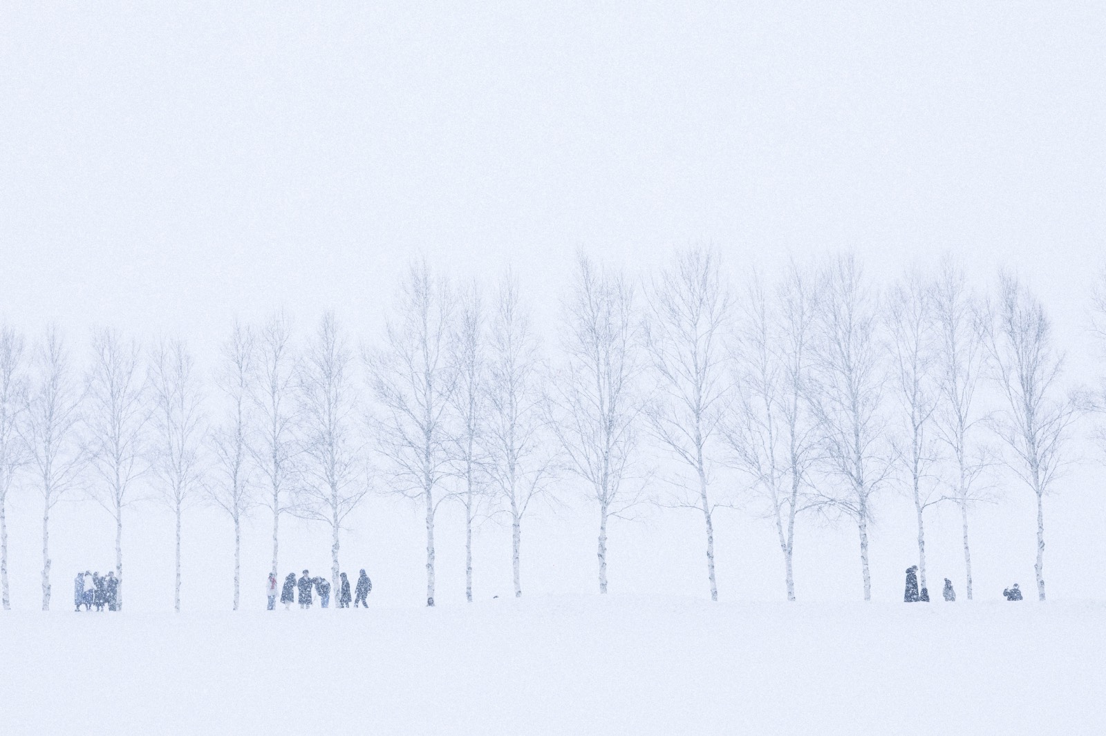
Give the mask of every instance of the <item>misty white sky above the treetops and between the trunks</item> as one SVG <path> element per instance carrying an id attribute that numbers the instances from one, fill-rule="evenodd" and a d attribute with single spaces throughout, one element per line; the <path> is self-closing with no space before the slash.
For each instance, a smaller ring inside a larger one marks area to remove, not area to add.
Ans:
<path id="1" fill-rule="evenodd" d="M 886 283 L 945 252 L 969 275 L 1023 276 L 1096 377 L 1085 333 L 1106 261 L 1106 12 L 1099 3 L 334 2 L 0 6 L 0 315 L 50 320 L 86 350 L 94 325 L 180 335 L 212 365 L 234 317 L 278 306 L 300 335 L 333 308 L 379 334 L 407 262 L 491 280 L 513 265 L 554 347 L 580 249 L 635 273 L 711 244 L 735 283 L 794 256 L 854 251 Z M 1084 427 L 1085 428 L 1085 427 Z M 1106 477 L 1094 449 L 1045 500 L 1050 598 L 1102 598 Z M 1032 494 L 973 517 L 978 598 L 1032 588 Z M 734 482 L 737 480 L 734 479 Z M 597 511 L 523 526 L 525 596 L 596 590 Z M 378 486 L 383 486 L 383 480 Z M 782 556 L 754 506 L 716 519 L 722 600 L 783 600 Z M 912 505 L 885 493 L 873 597 L 902 593 Z M 9 512 L 11 598 L 39 606 L 38 496 Z M 438 519 L 438 595 L 465 600 L 463 517 Z M 124 527 L 129 610 L 170 610 L 173 518 Z M 271 518 L 243 539 L 243 607 L 264 604 Z M 411 502 L 373 496 L 343 539 L 376 602 L 424 602 Z M 614 593 L 707 597 L 701 516 L 611 530 Z M 108 515 L 55 509 L 55 608 L 73 574 L 113 565 Z M 963 588 L 959 519 L 927 528 L 930 577 Z M 800 600 L 862 597 L 855 526 L 800 523 Z M 509 596 L 510 529 L 483 526 L 474 596 Z M 182 608 L 231 602 L 228 519 L 185 516 Z M 328 568 L 325 529 L 282 522 L 281 572 Z M 935 583 L 935 590 L 939 585 Z"/>

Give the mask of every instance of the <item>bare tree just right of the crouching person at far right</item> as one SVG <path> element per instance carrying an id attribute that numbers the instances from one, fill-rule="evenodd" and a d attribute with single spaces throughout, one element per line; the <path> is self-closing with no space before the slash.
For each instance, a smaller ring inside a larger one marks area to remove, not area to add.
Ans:
<path id="1" fill-rule="evenodd" d="M 1061 470 L 1075 406 L 1057 396 L 1063 357 L 1052 340 L 1044 307 L 1016 277 L 1001 274 L 987 347 L 1005 410 L 992 425 L 1010 449 L 1008 466 L 1033 491 L 1037 502 L 1037 597 L 1044 600 L 1044 495 Z"/>

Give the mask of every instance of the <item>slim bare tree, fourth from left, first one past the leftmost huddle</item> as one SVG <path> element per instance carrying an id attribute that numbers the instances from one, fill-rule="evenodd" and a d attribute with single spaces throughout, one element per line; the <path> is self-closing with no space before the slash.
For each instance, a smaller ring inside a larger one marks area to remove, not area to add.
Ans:
<path id="1" fill-rule="evenodd" d="M 176 522 L 173 608 L 180 612 L 180 518 L 199 484 L 199 453 L 204 442 L 202 397 L 192 357 L 184 341 L 161 340 L 150 357 L 154 398 L 154 470 L 161 501 Z"/>

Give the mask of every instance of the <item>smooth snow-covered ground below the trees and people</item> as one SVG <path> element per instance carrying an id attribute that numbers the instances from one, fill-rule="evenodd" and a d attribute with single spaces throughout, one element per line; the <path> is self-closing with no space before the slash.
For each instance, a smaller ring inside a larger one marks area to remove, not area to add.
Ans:
<path id="1" fill-rule="evenodd" d="M 0 617 L 6 734 L 1106 732 L 1106 604 Z"/>

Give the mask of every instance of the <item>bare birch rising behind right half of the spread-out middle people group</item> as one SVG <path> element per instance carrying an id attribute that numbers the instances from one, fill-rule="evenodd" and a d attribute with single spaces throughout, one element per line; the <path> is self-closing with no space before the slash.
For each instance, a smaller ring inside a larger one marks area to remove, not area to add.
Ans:
<path id="1" fill-rule="evenodd" d="M 302 482 L 290 511 L 330 527 L 335 595 L 340 590 L 342 526 L 368 492 L 368 477 L 359 461 L 358 401 L 352 367 L 348 343 L 334 315 L 327 313 L 300 366 L 304 458 Z"/>

